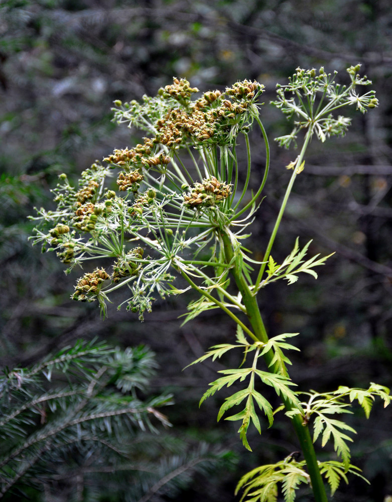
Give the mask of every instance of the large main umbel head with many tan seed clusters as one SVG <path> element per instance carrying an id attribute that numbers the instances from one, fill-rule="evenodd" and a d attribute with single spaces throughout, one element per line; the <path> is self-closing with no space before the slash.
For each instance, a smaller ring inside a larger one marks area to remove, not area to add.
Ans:
<path id="1" fill-rule="evenodd" d="M 44 231 L 37 229 L 36 240 L 45 242 L 43 249 L 53 246 L 49 249 L 69 265 L 67 272 L 92 258 L 111 259 L 110 277 L 104 269 L 85 274 L 76 285 L 74 300 L 97 299 L 104 310 L 106 292 L 124 283 L 132 292 L 128 307 L 142 316 L 151 310 L 153 292 L 161 297 L 172 294 L 167 284 L 174 281 L 169 273 L 173 257 L 199 245 L 196 237 L 185 235 L 194 226 L 192 210 L 211 209 L 198 214 L 197 221 L 204 219 L 205 228 L 212 219 L 214 225 L 219 218 L 226 222 L 229 208 L 223 201 L 232 192 L 233 173 L 230 161 L 222 157 L 217 167 L 213 156 L 227 154 L 236 136 L 247 132 L 263 87 L 244 80 L 226 91 L 215 89 L 192 99 L 198 89 L 186 79 L 174 78 L 157 96 L 144 96 L 142 103 L 115 101 L 121 108 L 116 118 L 136 124 L 147 137 L 93 163 L 81 173 L 76 187 L 61 175 L 53 191 L 57 210 L 38 211 Z M 191 163 L 182 158 L 182 148 L 193 157 Z M 206 156 L 211 156 L 210 163 Z M 213 238 L 206 231 L 203 242 Z M 153 256 L 142 260 L 147 248 Z M 111 284 L 103 288 L 106 279 Z"/>

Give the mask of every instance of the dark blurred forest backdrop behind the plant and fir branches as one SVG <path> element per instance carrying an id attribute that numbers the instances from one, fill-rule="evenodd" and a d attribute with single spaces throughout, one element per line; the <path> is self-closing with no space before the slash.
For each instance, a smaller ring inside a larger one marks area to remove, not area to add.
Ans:
<path id="1" fill-rule="evenodd" d="M 275 84 L 286 82 L 298 66 L 337 70 L 347 83 L 345 69 L 357 63 L 373 81 L 379 107 L 352 113 L 344 138 L 313 142 L 273 249 L 279 261 L 299 236 L 302 244 L 313 239 L 312 254 L 336 254 L 318 270 L 317 281 L 274 283 L 260 300 L 271 335 L 301 333 L 295 343 L 302 352 L 294 355 L 291 376 L 304 391 L 392 385 L 389 0 L 0 1 L 1 366 L 34 364 L 79 338 L 151 347 L 159 363 L 153 392 L 174 394 L 174 406 L 165 410 L 174 425 L 171 433 L 187 438 L 190 448 L 204 441 L 232 452 L 231 470 L 217 467 L 206 475 L 190 466 L 186 479 L 162 485 L 151 500 L 239 500 L 233 494 L 239 477 L 285 458 L 298 449 L 296 439 L 285 420 L 277 421 L 262 436 L 251 435 L 249 454 L 235 425 L 216 424 L 222 395 L 198 408 L 223 366 L 182 368 L 207 347 L 233 339 L 228 319 L 204 312 L 181 326 L 178 316 L 191 300 L 185 295 L 156 302 L 144 323 L 115 308 L 100 319 L 95 304 L 69 299 L 80 272 L 66 277 L 54 254 L 42 255 L 28 242 L 34 224 L 27 216 L 34 206 L 51 206 L 49 190 L 60 173 L 76 180 L 95 159 L 140 142 L 143 134 L 111 122 L 113 100 L 154 95 L 173 76 L 186 77 L 203 91 L 256 79 L 266 86 L 262 119 L 272 149 L 266 198 L 248 241 L 260 259 L 290 176 L 284 166 L 297 156 L 273 142 L 291 130 L 269 105 Z M 254 171 L 259 166 L 262 173 L 265 154 L 259 146 L 255 135 Z M 334 500 L 389 500 L 391 411 L 377 403 L 369 420 L 358 410 L 350 423 L 358 432 L 352 461 L 372 485 L 351 478 Z M 31 496 L 52 500 L 39 491 Z M 97 500 L 117 502 L 123 496 L 112 490 L 110 498 Z M 298 497 L 311 499 L 309 492 Z"/>

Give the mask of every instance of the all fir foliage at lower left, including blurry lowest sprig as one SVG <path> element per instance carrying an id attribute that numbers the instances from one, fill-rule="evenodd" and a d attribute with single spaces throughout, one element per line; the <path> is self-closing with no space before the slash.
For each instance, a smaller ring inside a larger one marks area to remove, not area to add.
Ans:
<path id="1" fill-rule="evenodd" d="M 149 396 L 156 369 L 145 347 L 79 341 L 31 368 L 5 372 L 2 496 L 44 489 L 78 500 L 82 490 L 86 502 L 113 494 L 134 502 L 184 489 L 195 473 L 231 468 L 231 452 L 159 431 L 171 426 L 159 408 L 172 401 Z"/>

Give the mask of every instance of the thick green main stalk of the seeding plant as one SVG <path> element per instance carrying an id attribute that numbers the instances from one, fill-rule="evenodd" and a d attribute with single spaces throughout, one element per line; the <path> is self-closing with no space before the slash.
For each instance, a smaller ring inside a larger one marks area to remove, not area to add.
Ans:
<path id="1" fill-rule="evenodd" d="M 232 262 L 234 252 L 231 244 L 229 230 L 226 229 L 226 232 L 225 231 L 221 232 L 221 237 L 223 241 L 226 261 L 227 263 L 230 263 Z M 266 327 L 263 322 L 263 318 L 260 314 L 260 310 L 257 305 L 256 297 L 250 291 L 242 275 L 241 270 L 238 270 L 234 267 L 233 269 L 231 269 L 231 272 L 233 274 L 238 290 L 242 295 L 242 302 L 246 308 L 246 315 L 248 317 L 250 325 L 253 328 L 253 333 L 258 338 L 258 340 L 267 343 L 269 338 Z M 269 350 L 266 354 L 264 354 L 264 359 L 267 363 L 267 366 L 270 367 L 271 371 L 278 373 L 277 367 L 274 367 L 275 365 L 270 366 L 273 357 L 274 357 L 274 351 L 272 349 Z M 282 401 L 287 411 L 291 411 L 294 409 L 293 404 L 284 397 L 282 397 Z M 313 447 L 313 442 L 309 432 L 309 428 L 307 425 L 303 423 L 303 418 L 300 415 L 294 415 L 294 417 L 292 417 L 290 420 L 294 426 L 298 440 L 301 445 L 302 453 L 306 460 L 306 465 L 308 467 L 308 473 L 312 483 L 315 502 L 327 502 L 328 499 L 325 492 L 323 479 L 320 474 L 320 469 L 317 463 L 317 457 Z"/>

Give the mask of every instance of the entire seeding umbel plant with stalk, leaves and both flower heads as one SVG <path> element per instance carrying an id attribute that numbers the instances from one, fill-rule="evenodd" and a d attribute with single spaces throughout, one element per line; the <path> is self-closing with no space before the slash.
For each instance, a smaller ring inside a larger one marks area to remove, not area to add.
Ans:
<path id="1" fill-rule="evenodd" d="M 240 438 L 251 450 L 246 434 L 251 424 L 261 432 L 259 412 L 271 426 L 276 413 L 285 410 L 304 455 L 303 461 L 289 455 L 243 476 L 237 489 L 244 488 L 242 498 L 252 501 L 277 500 L 278 483 L 282 483 L 285 500 L 290 502 L 298 486 L 305 483 L 311 485 L 317 502 L 326 502 L 323 477 L 333 493 L 341 479 L 347 480 L 347 472 L 360 476 L 359 469 L 350 463 L 348 447 L 352 441 L 348 434 L 355 431 L 333 417 L 350 413 L 353 401 L 368 416 L 375 397 L 385 406 L 391 400 L 389 390 L 376 384 L 366 390 L 340 387 L 325 394 L 293 390 L 287 351 L 298 348 L 288 339 L 298 333 L 270 338 L 257 304 L 260 290 L 269 283 L 284 279 L 293 284 L 300 273 L 317 278 L 314 269 L 328 258 L 306 258 L 309 243 L 300 248 L 298 239 L 281 264 L 272 258 L 271 250 L 312 137 L 324 142 L 331 136 L 343 136 L 350 124 L 348 117 L 336 116 L 343 106 L 354 105 L 361 112 L 377 106 L 374 91 L 358 93 L 358 86 L 371 84 L 359 75 L 359 67 L 348 68 L 347 86 L 335 82 L 336 72 L 327 74 L 323 68 L 318 72 L 298 68 L 288 84 L 278 85 L 273 104 L 295 121 L 292 132 L 276 140 L 289 147 L 296 144 L 301 131 L 304 136 L 299 155 L 287 166 L 292 175 L 261 262 L 250 257 L 243 241 L 260 205 L 270 150 L 259 118 L 264 86 L 248 80 L 236 82 L 224 92 L 209 91 L 192 99 L 198 89 L 175 78 L 155 97 L 144 96 L 142 103 L 115 101 L 114 119 L 145 131 L 143 143 L 130 150 L 114 150 L 102 163 L 96 161 L 82 173 L 77 187 L 61 174 L 53 190 L 57 208 L 41 208 L 35 217 L 39 221 L 35 242 L 54 250 L 68 265 L 67 271 L 91 260 L 100 263 L 101 268 L 78 280 L 74 300 L 97 300 L 105 313 L 111 294 L 121 288 L 125 299 L 119 308 L 126 305 L 143 320 L 155 296 L 166 298 L 193 289 L 198 298 L 189 304 L 186 321 L 205 310 L 220 308 L 235 322 L 234 343 L 216 345 L 194 363 L 240 350 L 244 353 L 242 364 L 220 371 L 223 376 L 210 384 L 201 402 L 225 386 L 246 380 L 247 387 L 224 400 L 218 420 L 231 408 L 242 407 L 226 420 L 240 422 Z M 257 190 L 249 194 L 252 163 L 248 133 L 253 125 L 264 138 L 266 163 Z M 240 142 L 247 155 L 245 169 L 237 157 Z M 242 184 L 240 170 L 245 175 Z M 175 285 L 178 276 L 188 283 L 186 289 Z M 249 366 L 243 367 L 249 356 Z M 264 369 L 259 369 L 263 360 Z M 278 410 L 255 390 L 258 379 L 280 396 L 283 404 Z M 313 443 L 319 437 L 322 447 L 329 440 L 333 442 L 333 460 L 317 460 Z"/>

